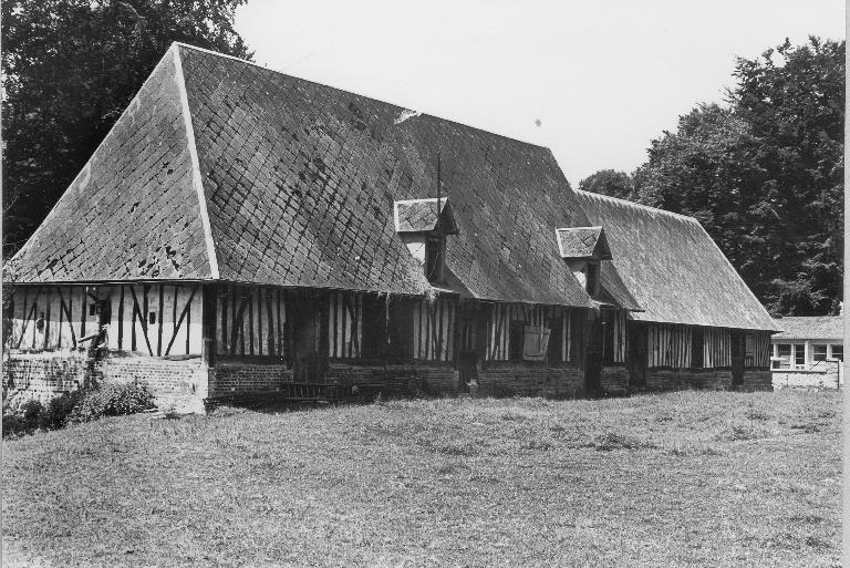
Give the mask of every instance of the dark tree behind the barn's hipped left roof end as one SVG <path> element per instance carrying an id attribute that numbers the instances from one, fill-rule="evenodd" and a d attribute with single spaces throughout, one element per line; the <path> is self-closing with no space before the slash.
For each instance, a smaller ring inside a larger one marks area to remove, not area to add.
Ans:
<path id="1" fill-rule="evenodd" d="M 234 30 L 245 1 L 2 3 L 7 257 L 56 203 L 172 42 L 252 56 Z"/>

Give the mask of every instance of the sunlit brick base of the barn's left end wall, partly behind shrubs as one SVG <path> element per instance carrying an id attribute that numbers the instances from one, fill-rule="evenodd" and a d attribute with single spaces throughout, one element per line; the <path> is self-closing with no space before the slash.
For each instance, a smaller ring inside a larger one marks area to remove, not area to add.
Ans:
<path id="1" fill-rule="evenodd" d="M 3 361 L 3 399 L 48 403 L 86 382 L 137 382 L 147 386 L 163 410 L 203 412 L 207 369 L 200 358 L 167 360 L 110 353 L 91 361 L 82 352 L 14 353 Z"/>

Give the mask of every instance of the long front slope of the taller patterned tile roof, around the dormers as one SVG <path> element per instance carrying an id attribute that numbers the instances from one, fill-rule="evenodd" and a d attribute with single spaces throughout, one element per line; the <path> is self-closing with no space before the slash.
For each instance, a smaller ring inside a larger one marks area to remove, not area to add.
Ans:
<path id="1" fill-rule="evenodd" d="M 556 227 L 589 225 L 547 148 L 179 48 L 221 279 L 421 293 L 393 204 L 442 195 L 480 299 L 590 306 Z"/>

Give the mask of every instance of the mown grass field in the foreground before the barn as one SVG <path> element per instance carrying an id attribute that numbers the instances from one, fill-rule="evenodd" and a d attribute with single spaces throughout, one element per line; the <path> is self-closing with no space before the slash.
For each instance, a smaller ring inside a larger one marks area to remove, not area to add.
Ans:
<path id="1" fill-rule="evenodd" d="M 839 566 L 840 401 L 108 419 L 2 443 L 3 551 L 20 566 Z"/>

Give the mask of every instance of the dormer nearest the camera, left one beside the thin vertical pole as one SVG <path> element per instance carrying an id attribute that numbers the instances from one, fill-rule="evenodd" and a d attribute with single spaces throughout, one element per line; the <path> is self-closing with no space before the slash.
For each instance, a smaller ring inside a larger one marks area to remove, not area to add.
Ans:
<path id="1" fill-rule="evenodd" d="M 444 279 L 446 235 L 457 235 L 457 224 L 448 198 L 395 202 L 395 231 L 411 255 L 423 266 L 432 283 Z"/>

